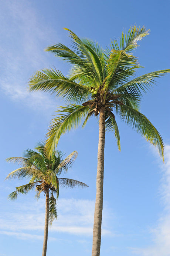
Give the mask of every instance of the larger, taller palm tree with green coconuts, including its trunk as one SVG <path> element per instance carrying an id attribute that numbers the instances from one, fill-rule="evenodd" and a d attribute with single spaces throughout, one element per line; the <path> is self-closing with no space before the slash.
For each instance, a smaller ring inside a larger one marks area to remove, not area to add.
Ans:
<path id="1" fill-rule="evenodd" d="M 58 43 L 46 50 L 72 64 L 69 77 L 55 69 L 36 72 L 28 85 L 30 91 L 45 91 L 59 96 L 71 103 L 58 109 L 48 131 L 46 147 L 50 153 L 56 147 L 60 136 L 77 128 L 84 120 L 99 114 L 98 167 L 96 179 L 96 204 L 93 227 L 92 255 L 99 256 L 101 245 L 101 222 L 103 207 L 103 171 L 105 129 L 114 132 L 120 150 L 120 136 L 115 114 L 132 126 L 153 146 L 157 147 L 163 158 L 163 141 L 153 124 L 139 112 L 142 93 L 153 86 L 157 77 L 170 72 L 159 70 L 135 77 L 140 67 L 132 51 L 137 41 L 149 34 L 145 27 L 130 27 L 120 40 L 111 40 L 108 49 L 103 50 L 89 39 L 79 39 L 66 29 L 72 39 L 72 49 Z M 132 77 L 132 78 L 131 78 Z M 114 110 L 114 113 L 113 113 Z"/>

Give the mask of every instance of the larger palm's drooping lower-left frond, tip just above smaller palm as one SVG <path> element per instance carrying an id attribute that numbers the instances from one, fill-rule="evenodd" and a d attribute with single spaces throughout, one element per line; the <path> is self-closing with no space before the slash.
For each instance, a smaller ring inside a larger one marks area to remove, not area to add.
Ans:
<path id="1" fill-rule="evenodd" d="M 88 113 L 88 106 L 81 105 L 67 105 L 66 107 L 61 107 L 57 112 L 62 112 L 62 114 L 56 115 L 51 121 L 51 126 L 48 131 L 48 140 L 46 143 L 47 151 L 49 154 L 55 149 L 58 140 L 62 134 L 69 132 L 72 129 L 76 129 L 82 122 L 86 114 Z"/>

